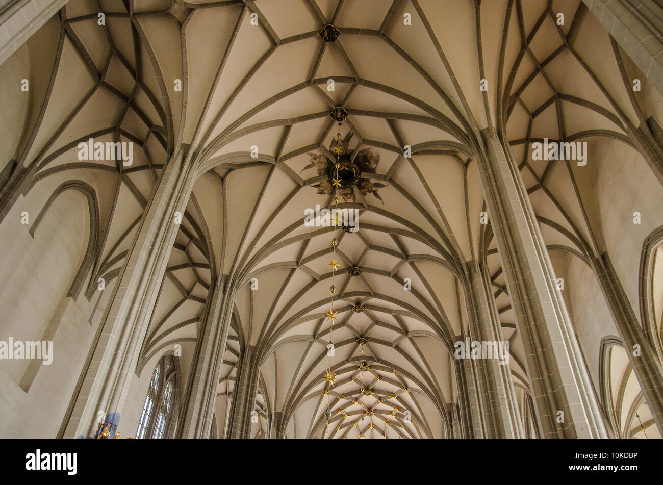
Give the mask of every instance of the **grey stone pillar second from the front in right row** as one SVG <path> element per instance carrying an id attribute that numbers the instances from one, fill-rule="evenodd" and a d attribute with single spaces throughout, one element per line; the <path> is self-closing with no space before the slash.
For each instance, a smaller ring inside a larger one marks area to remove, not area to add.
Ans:
<path id="1" fill-rule="evenodd" d="M 524 430 L 518 413 L 511 369 L 508 361 L 502 364 L 499 361 L 499 349 L 504 345 L 504 336 L 497 318 L 495 300 L 488 297 L 486 282 L 476 261 L 466 263 L 465 274 L 470 339 L 495 343 L 493 349 L 498 350 L 498 354 L 491 356 L 492 358 L 474 361 L 479 374 L 486 437 L 522 438 Z"/>

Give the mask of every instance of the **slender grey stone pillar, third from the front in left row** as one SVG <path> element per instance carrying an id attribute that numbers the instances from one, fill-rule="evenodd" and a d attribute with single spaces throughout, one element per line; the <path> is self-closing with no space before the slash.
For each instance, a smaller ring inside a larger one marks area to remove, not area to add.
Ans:
<path id="1" fill-rule="evenodd" d="M 247 345 L 237 370 L 226 433 L 226 437 L 229 439 L 249 439 L 251 437 L 251 411 L 255 409 L 260 374 L 259 356 L 256 349 L 255 345 Z"/>

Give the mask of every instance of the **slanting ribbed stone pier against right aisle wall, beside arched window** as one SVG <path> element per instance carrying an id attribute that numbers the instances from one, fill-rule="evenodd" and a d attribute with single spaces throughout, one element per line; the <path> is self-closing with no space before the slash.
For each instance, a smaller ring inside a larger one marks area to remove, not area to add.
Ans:
<path id="1" fill-rule="evenodd" d="M 607 300 L 610 312 L 615 319 L 626 353 L 629 356 L 636 378 L 640 383 L 642 395 L 652 411 L 658 430 L 663 433 L 663 367 L 656 354 L 656 349 L 642 331 L 640 322 L 626 296 L 607 253 L 592 261 L 601 290 Z M 638 346 L 638 352 L 636 347 Z M 639 355 L 636 355 L 639 353 Z"/>

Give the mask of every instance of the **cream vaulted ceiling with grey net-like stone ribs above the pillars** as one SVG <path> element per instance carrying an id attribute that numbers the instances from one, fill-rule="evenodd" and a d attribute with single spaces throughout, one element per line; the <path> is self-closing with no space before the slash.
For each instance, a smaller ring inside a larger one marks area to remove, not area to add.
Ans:
<path id="1" fill-rule="evenodd" d="M 333 43 L 318 35 L 326 23 L 341 30 Z M 176 146 L 198 163 L 141 362 L 174 343 L 192 348 L 212 275 L 241 280 L 216 419 L 243 349 L 255 345 L 259 407 L 288 416 L 288 437 L 446 437 L 440 410 L 456 400 L 447 350 L 467 333 L 458 278 L 472 259 L 493 284 L 524 405 L 522 345 L 490 225 L 480 222 L 477 131 L 491 123 L 509 140 L 546 243 L 586 259 L 601 243 L 576 188 L 591 188 L 598 169 L 534 164 L 531 143 L 620 140 L 631 153 L 627 124 L 660 111 L 638 106 L 628 81 L 642 76 L 580 0 L 71 0 L 29 40 L 37 44 L 24 133 L 7 150 L 45 193 L 74 177 L 93 183 L 97 276 L 117 275 Z M 359 209 L 357 233 L 302 223 L 333 198 L 318 193 L 310 164 L 333 159 L 337 105 L 349 112 L 340 133 L 352 134 L 351 158 L 379 156 L 375 173 L 362 174 L 379 194 L 339 201 Z M 76 145 L 90 137 L 134 142 L 133 164 L 78 162 Z M 339 319 L 330 335 L 333 237 Z M 351 266 L 361 275 L 347 274 Z M 330 339 L 337 380 L 326 396 Z M 252 435 L 264 434 L 259 419 Z"/>

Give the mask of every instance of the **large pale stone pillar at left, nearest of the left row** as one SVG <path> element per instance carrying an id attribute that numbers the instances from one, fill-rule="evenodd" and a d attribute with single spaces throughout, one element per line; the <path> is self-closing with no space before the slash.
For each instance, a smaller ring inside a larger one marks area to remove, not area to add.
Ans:
<path id="1" fill-rule="evenodd" d="M 188 161 L 178 148 L 158 180 L 58 438 L 91 436 L 96 431 L 98 411 L 104 417 L 113 412 L 121 414 L 178 231 L 174 215 L 177 211 L 184 213 L 191 193 L 192 170 Z"/>

